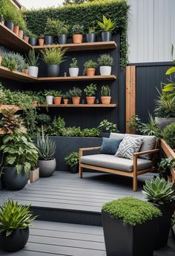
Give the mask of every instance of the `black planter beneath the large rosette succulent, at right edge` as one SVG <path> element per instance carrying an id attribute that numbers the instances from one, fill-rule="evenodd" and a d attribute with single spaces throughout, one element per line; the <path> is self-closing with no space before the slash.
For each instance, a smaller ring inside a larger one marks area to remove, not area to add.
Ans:
<path id="1" fill-rule="evenodd" d="M 162 211 L 162 217 L 156 220 L 156 242 L 154 246 L 154 249 L 160 249 L 167 246 L 168 243 L 168 235 L 171 229 L 171 217 L 175 209 L 175 200 L 171 203 L 165 203 L 164 205 L 153 205 Z"/>

